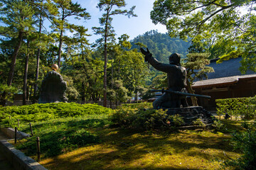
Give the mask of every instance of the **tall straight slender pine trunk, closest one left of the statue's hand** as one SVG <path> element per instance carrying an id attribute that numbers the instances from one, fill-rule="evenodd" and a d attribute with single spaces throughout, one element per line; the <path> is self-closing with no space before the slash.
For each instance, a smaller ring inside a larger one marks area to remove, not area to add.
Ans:
<path id="1" fill-rule="evenodd" d="M 107 107 L 107 24 L 108 24 L 108 13 L 105 23 L 105 40 L 104 40 L 104 78 L 103 78 L 103 87 L 104 87 L 104 94 L 103 94 L 103 106 Z"/>

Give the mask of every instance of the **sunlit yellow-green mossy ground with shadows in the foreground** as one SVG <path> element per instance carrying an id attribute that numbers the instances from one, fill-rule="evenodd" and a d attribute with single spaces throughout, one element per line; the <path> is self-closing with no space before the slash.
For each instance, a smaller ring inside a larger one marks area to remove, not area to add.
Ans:
<path id="1" fill-rule="evenodd" d="M 106 127 L 95 132 L 101 143 L 43 159 L 41 164 L 47 169 L 218 169 L 218 160 L 240 156 L 224 133 L 148 133 Z"/>

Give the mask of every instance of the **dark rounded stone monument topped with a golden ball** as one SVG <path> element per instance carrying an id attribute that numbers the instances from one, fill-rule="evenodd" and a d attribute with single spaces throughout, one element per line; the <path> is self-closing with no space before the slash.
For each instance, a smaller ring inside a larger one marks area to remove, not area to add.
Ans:
<path id="1" fill-rule="evenodd" d="M 53 69 L 53 71 L 48 72 L 42 81 L 38 103 L 58 103 L 68 101 L 68 98 L 65 97 L 67 83 L 63 81 L 63 77 L 56 72 L 58 65 L 53 64 L 51 69 Z"/>

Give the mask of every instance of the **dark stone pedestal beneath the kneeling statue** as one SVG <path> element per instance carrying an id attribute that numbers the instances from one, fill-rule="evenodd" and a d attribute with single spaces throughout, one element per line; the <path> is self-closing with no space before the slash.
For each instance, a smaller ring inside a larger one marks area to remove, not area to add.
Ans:
<path id="1" fill-rule="evenodd" d="M 181 115 L 185 122 L 182 127 L 197 127 L 198 125 L 195 125 L 195 121 L 198 119 L 204 124 L 203 126 L 210 126 L 213 124 L 214 120 L 213 115 L 201 106 L 169 108 L 166 113 L 168 115 Z"/>

